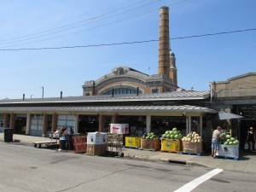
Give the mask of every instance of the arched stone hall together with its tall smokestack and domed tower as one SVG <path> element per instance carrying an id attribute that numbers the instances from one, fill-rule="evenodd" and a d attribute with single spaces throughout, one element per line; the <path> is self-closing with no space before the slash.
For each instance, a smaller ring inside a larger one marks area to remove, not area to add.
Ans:
<path id="1" fill-rule="evenodd" d="M 85 81 L 83 96 L 164 93 L 177 90 L 176 58 L 170 48 L 169 8 L 160 9 L 158 74 L 148 75 L 130 67 L 115 67 L 97 80 Z"/>

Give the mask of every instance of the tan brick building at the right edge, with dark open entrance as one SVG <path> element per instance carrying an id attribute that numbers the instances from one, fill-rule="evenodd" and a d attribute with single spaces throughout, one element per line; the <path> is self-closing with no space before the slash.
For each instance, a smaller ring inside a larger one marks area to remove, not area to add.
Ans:
<path id="1" fill-rule="evenodd" d="M 223 121 L 222 126 L 231 130 L 232 135 L 238 137 L 241 144 L 245 143 L 249 127 L 256 128 L 256 73 L 213 81 L 210 85 L 212 102 L 207 107 L 241 115 L 242 119 Z"/>

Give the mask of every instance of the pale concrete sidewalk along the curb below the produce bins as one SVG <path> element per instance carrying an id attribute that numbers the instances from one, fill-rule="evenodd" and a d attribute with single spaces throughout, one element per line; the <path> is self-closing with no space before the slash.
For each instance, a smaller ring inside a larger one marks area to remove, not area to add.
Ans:
<path id="1" fill-rule="evenodd" d="M 50 141 L 49 137 L 32 137 L 14 134 L 14 144 L 22 144 L 33 147 L 32 142 Z M 3 143 L 3 133 L 0 133 L 0 142 Z M 235 172 L 256 173 L 256 152 L 249 154 L 241 152 L 240 160 L 214 159 L 210 155 L 197 156 L 194 154 L 176 154 L 160 151 L 148 151 L 131 148 L 123 148 L 125 158 L 136 160 L 165 161 L 170 163 L 185 164 L 191 166 L 205 166 L 221 168 Z"/>

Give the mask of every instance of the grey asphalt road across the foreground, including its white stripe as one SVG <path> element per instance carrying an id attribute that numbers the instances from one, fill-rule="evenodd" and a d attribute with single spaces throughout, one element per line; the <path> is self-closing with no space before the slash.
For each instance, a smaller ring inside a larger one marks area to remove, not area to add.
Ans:
<path id="1" fill-rule="evenodd" d="M 255 174 L 0 143 L 0 191 L 255 191 Z"/>

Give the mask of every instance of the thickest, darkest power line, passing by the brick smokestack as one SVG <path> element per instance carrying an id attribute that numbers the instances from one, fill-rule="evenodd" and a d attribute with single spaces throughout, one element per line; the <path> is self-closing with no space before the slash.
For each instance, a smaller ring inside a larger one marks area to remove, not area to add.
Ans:
<path id="1" fill-rule="evenodd" d="M 216 35 L 230 34 L 230 33 L 236 33 L 236 32 L 249 32 L 249 31 L 255 31 L 255 30 L 256 28 L 250 28 L 250 29 L 236 30 L 236 31 L 230 31 L 230 32 L 215 32 L 215 33 L 207 33 L 207 34 L 201 34 L 201 35 L 191 35 L 191 36 L 185 36 L 185 37 L 170 38 L 170 39 L 177 40 L 177 39 L 185 39 L 185 38 L 202 38 L 207 36 L 216 36 Z M 90 47 L 113 46 L 113 45 L 122 45 L 122 44 L 143 44 L 143 43 L 150 43 L 150 42 L 157 42 L 157 41 L 158 40 L 145 40 L 145 41 L 134 41 L 134 42 L 123 42 L 123 43 L 112 43 L 112 44 L 75 45 L 75 46 L 65 46 L 65 47 L 0 49 L 0 51 L 90 48 Z"/>

